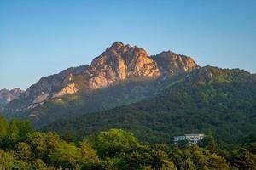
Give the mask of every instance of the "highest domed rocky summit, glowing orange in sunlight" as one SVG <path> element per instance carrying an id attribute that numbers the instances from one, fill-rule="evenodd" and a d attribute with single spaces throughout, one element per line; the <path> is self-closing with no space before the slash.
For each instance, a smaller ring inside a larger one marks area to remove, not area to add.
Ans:
<path id="1" fill-rule="evenodd" d="M 115 42 L 90 65 L 90 88 L 102 88 L 128 77 L 157 77 L 159 68 L 143 48 Z"/>

